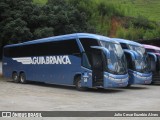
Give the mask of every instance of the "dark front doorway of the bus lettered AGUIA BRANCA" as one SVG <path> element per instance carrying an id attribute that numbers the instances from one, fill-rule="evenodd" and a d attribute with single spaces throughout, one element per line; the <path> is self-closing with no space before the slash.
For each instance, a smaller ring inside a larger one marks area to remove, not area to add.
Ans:
<path id="1" fill-rule="evenodd" d="M 92 80 L 93 86 L 103 85 L 103 52 L 99 49 L 92 49 L 91 52 L 91 68 L 92 68 Z"/>

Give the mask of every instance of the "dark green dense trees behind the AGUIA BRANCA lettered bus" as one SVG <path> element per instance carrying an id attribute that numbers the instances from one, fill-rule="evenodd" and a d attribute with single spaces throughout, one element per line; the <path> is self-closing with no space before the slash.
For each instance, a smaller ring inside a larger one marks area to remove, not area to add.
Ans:
<path id="1" fill-rule="evenodd" d="M 49 0 L 43 6 L 33 4 L 32 0 L 1 0 L 0 5 L 1 46 L 92 30 L 87 23 L 90 13 L 64 0 Z"/>

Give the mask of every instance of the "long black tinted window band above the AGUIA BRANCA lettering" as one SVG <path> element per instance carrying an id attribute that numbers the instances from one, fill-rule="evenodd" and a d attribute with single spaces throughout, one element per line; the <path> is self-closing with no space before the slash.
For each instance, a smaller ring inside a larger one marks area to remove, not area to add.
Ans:
<path id="1" fill-rule="evenodd" d="M 31 45 L 22 45 L 5 48 L 6 57 L 26 57 L 45 55 L 76 55 L 80 56 L 80 51 L 76 40 L 64 40 L 46 42 Z"/>

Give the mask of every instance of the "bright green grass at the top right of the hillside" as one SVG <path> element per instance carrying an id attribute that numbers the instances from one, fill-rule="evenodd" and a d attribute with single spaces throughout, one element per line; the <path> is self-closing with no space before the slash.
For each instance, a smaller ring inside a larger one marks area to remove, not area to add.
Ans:
<path id="1" fill-rule="evenodd" d="M 160 0 L 94 0 L 114 4 L 126 16 L 144 16 L 152 21 L 160 22 Z"/>

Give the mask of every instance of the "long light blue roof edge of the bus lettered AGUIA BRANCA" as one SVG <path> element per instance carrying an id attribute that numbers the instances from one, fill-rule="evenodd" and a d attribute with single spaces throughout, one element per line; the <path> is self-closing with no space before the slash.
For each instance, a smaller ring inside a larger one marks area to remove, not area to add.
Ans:
<path id="1" fill-rule="evenodd" d="M 102 35 L 90 34 L 90 33 L 73 33 L 73 34 L 67 34 L 67 35 L 60 35 L 60 36 L 53 36 L 53 37 L 48 37 L 48 38 L 37 39 L 37 40 L 32 40 L 32 41 L 18 43 L 18 44 L 6 45 L 5 47 L 30 45 L 30 44 L 37 44 L 37 43 L 44 43 L 44 42 L 51 42 L 51 41 L 61 41 L 61 40 L 74 39 L 74 38 L 77 38 L 77 37 L 78 38 L 93 38 L 93 39 L 118 43 L 115 40 L 112 40 L 111 38 L 105 37 L 105 36 L 102 36 Z"/>

